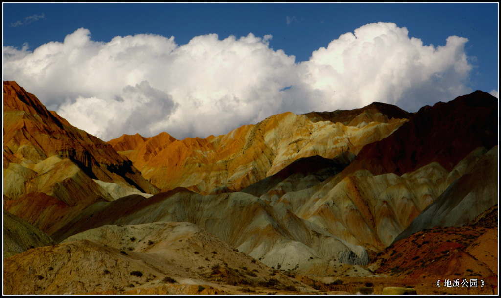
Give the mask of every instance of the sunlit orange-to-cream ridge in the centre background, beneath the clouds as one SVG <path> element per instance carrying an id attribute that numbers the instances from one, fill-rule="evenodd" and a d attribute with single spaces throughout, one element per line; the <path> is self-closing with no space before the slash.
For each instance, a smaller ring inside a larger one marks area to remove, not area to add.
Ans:
<path id="1" fill-rule="evenodd" d="M 283 113 L 217 137 L 176 140 L 167 133 L 151 138 L 136 134 L 123 135 L 109 144 L 157 187 L 186 187 L 208 194 L 241 190 L 299 158 L 333 158 L 348 151 L 357 154 L 411 116 L 379 103 L 342 114 L 342 119 L 318 121 L 308 114 Z M 337 121 L 347 118 L 351 120 Z"/>

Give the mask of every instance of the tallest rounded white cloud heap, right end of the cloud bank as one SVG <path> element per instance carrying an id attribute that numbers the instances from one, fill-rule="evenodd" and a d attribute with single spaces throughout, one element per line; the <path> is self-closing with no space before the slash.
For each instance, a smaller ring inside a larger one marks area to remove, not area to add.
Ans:
<path id="1" fill-rule="evenodd" d="M 416 111 L 470 91 L 464 85 L 471 70 L 467 39 L 451 36 L 435 48 L 407 34 L 393 23 L 377 23 L 341 35 L 304 63 L 308 85 L 330 103 L 328 109 L 339 102 L 356 108 L 382 101 Z"/>

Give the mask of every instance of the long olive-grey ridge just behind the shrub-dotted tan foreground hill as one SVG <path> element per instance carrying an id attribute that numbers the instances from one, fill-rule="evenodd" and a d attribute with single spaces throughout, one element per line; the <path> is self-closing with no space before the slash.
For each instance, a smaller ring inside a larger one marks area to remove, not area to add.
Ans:
<path id="1" fill-rule="evenodd" d="M 56 240 L 105 224 L 188 221 L 269 266 L 308 271 L 340 262 L 368 262 L 365 249 L 334 237 L 283 208 L 245 193 L 200 195 L 173 190 L 150 198 L 128 196 L 93 204 L 55 233 Z M 365 270 L 360 269 L 360 274 Z"/>

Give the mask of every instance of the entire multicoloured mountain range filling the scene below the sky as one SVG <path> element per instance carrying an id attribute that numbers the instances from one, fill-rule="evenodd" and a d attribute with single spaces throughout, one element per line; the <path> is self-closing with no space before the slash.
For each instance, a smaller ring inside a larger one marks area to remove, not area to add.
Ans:
<path id="1" fill-rule="evenodd" d="M 420 281 L 448 276 L 497 293 L 495 218 L 482 91 L 104 142 L 4 82 L 5 294 L 442 293 Z"/>

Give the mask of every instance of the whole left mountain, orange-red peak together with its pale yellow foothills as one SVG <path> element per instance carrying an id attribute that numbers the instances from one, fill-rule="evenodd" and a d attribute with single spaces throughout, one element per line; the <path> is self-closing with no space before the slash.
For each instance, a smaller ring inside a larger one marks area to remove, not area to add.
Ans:
<path id="1" fill-rule="evenodd" d="M 51 233 L 117 191 L 157 189 L 110 145 L 48 111 L 16 82 L 4 82 L 4 210 Z"/>

